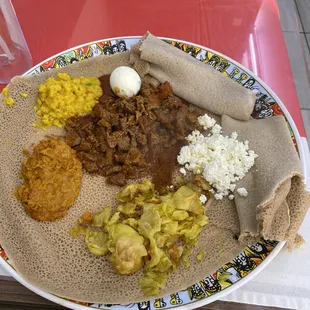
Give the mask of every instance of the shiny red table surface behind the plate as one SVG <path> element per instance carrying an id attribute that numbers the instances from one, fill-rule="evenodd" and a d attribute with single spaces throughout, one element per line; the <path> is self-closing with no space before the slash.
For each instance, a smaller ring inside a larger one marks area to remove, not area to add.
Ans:
<path id="1" fill-rule="evenodd" d="M 33 63 L 116 36 L 191 41 L 242 63 L 264 80 L 305 136 L 276 0 L 13 0 Z"/>

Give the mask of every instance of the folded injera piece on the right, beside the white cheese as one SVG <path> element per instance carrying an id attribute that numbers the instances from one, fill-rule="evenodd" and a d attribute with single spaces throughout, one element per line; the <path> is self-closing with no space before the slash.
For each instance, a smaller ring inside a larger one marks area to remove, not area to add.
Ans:
<path id="1" fill-rule="evenodd" d="M 298 229 L 309 208 L 300 160 L 283 116 L 242 122 L 222 116 L 223 133 L 238 133 L 248 140 L 258 157 L 253 169 L 239 182 L 247 197 L 235 193 L 240 222 L 240 242 L 248 243 L 257 236 L 286 240 L 292 247 Z M 284 231 L 284 228 L 286 230 Z M 251 238 L 253 237 L 253 238 Z"/>

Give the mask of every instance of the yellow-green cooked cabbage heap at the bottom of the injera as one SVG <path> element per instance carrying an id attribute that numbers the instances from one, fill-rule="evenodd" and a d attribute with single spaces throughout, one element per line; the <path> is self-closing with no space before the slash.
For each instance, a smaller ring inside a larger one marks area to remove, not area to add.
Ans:
<path id="1" fill-rule="evenodd" d="M 143 268 L 139 280 L 143 293 L 157 295 L 169 272 L 176 271 L 181 262 L 189 264 L 191 248 L 208 224 L 204 207 L 193 188 L 181 186 L 175 193 L 160 196 L 148 179 L 128 185 L 115 197 L 117 212 L 112 214 L 112 207 L 86 212 L 70 234 L 84 235 L 93 254 L 109 255 L 120 275 Z M 197 259 L 203 256 L 201 251 Z"/>

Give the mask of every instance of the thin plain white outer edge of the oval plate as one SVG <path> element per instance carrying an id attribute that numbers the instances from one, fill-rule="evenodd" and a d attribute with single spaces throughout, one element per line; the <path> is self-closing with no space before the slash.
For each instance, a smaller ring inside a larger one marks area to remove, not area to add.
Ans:
<path id="1" fill-rule="evenodd" d="M 129 40 L 129 39 L 140 39 L 142 36 L 119 36 L 119 37 L 112 37 L 112 38 L 105 38 L 105 39 L 101 39 L 101 40 L 96 40 L 96 41 L 91 41 L 88 43 L 84 43 L 72 48 L 69 48 L 67 50 L 64 50 L 60 53 L 57 53 L 45 60 L 43 60 L 42 62 L 38 63 L 37 65 L 33 66 L 31 69 L 29 69 L 27 72 L 25 72 L 22 76 L 27 76 L 29 75 L 29 73 L 31 73 L 33 70 L 35 70 L 36 68 L 40 67 L 42 64 L 55 59 L 58 56 L 64 55 L 66 53 L 69 53 L 71 51 L 74 51 L 76 49 L 85 47 L 85 46 L 90 46 L 99 42 L 103 42 L 103 41 L 113 41 L 113 40 Z M 230 63 L 234 64 L 235 66 L 239 67 L 240 69 L 242 69 L 245 73 L 247 73 L 250 77 L 253 77 L 265 90 L 266 92 L 276 101 L 276 103 L 280 106 L 281 110 L 283 111 L 283 114 L 285 115 L 293 133 L 296 139 L 296 143 L 297 143 L 297 147 L 298 147 L 298 152 L 299 152 L 299 156 L 300 156 L 300 160 L 301 160 L 301 165 L 302 165 L 302 170 L 305 173 L 305 169 L 306 169 L 306 162 L 305 162 L 305 152 L 304 149 L 302 147 L 302 141 L 301 141 L 301 137 L 299 135 L 299 132 L 297 130 L 296 124 L 292 118 L 292 116 L 290 115 L 290 113 L 288 112 L 288 110 L 286 109 L 286 107 L 284 106 L 284 104 L 282 103 L 282 101 L 280 100 L 280 98 L 269 88 L 268 85 L 266 85 L 266 83 L 264 81 L 262 81 L 256 74 L 254 74 L 252 71 L 248 70 L 247 68 L 245 68 L 242 64 L 238 63 L 237 61 L 233 60 L 232 58 L 218 52 L 215 51 L 213 49 L 210 49 L 208 47 L 196 44 L 196 43 L 192 43 L 189 41 L 184 41 L 184 40 L 178 40 L 175 38 L 168 38 L 168 37 L 159 37 L 162 40 L 168 40 L 168 41 L 177 41 L 179 43 L 183 43 L 183 44 L 188 44 L 191 46 L 195 46 L 198 47 L 200 49 L 203 50 L 207 50 L 208 52 L 211 52 L 213 54 L 216 54 L 220 57 L 222 57 L 223 59 L 229 61 Z M 197 308 L 197 307 L 201 307 L 203 305 L 209 304 L 211 302 L 214 302 L 222 297 L 224 297 L 225 295 L 235 291 L 236 289 L 240 288 L 241 286 L 243 286 L 245 283 L 247 283 L 248 281 L 250 281 L 251 279 L 253 279 L 259 272 L 261 272 L 276 256 L 277 254 L 281 251 L 281 249 L 283 248 L 283 246 L 285 245 L 285 241 L 280 241 L 274 248 L 273 250 L 268 254 L 268 256 L 262 260 L 262 262 L 256 266 L 251 272 L 249 272 L 246 276 L 244 276 L 243 278 L 241 278 L 240 280 L 238 280 L 237 282 L 231 284 L 229 287 L 221 290 L 220 292 L 215 293 L 212 296 L 207 296 L 205 298 L 202 298 L 200 300 L 192 300 L 190 303 L 184 304 L 184 305 L 179 305 L 179 306 L 173 306 L 173 307 L 165 307 L 165 309 L 172 309 L 172 308 L 177 308 L 179 310 L 183 310 L 183 309 L 193 309 L 193 308 Z M 77 310 L 85 310 L 85 309 L 96 309 L 90 306 L 84 306 L 82 304 L 78 304 L 74 301 L 69 301 L 65 298 L 56 296 L 54 294 L 45 292 L 39 288 L 37 288 L 36 286 L 32 285 L 31 283 L 29 283 L 28 281 L 26 281 L 21 275 L 19 275 L 19 273 L 9 264 L 7 263 L 3 258 L 0 259 L 0 266 L 4 268 L 4 270 L 6 270 L 15 280 L 17 280 L 18 282 L 20 282 L 23 286 L 25 286 L 26 288 L 28 288 L 29 290 L 33 291 L 34 293 L 50 300 L 53 301 L 59 305 L 68 307 L 70 309 L 77 309 Z M 97 308 L 98 309 L 98 308 Z M 101 308 L 100 308 L 101 309 Z M 107 309 L 102 308 L 102 309 Z M 115 307 L 113 307 L 113 309 L 116 309 L 116 305 Z"/>

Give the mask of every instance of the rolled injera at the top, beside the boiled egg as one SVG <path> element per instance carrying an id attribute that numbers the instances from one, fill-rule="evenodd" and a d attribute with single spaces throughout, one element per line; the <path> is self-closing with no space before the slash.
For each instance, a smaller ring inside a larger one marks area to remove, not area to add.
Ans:
<path id="1" fill-rule="evenodd" d="M 189 54 L 150 33 L 131 52 L 130 63 L 141 76 L 168 81 L 177 96 L 214 114 L 250 118 L 255 94 Z"/>

